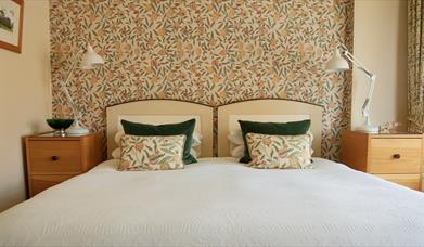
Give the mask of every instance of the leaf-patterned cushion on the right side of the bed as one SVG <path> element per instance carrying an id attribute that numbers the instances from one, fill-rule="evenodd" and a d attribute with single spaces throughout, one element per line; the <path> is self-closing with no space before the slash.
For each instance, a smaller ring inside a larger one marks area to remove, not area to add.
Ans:
<path id="1" fill-rule="evenodd" d="M 312 168 L 310 135 L 246 134 L 252 160 L 249 167 L 262 169 Z"/>

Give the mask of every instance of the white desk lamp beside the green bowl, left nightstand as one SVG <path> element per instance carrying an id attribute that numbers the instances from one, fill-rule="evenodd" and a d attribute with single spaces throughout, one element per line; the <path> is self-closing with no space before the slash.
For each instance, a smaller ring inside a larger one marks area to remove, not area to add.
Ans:
<path id="1" fill-rule="evenodd" d="M 94 52 L 93 48 L 90 44 L 88 44 L 87 50 L 85 52 L 79 51 L 75 55 L 74 62 L 72 63 L 69 72 L 66 75 L 66 79 L 64 81 L 61 81 L 61 87 L 62 87 L 63 91 L 65 92 L 65 95 L 66 95 L 66 98 L 73 108 L 73 112 L 74 112 L 74 118 L 75 118 L 74 125 L 69 129 L 66 130 L 66 132 L 70 135 L 73 135 L 73 134 L 74 135 L 87 134 L 89 132 L 88 129 L 86 129 L 79 125 L 79 119 L 81 118 L 81 112 L 78 109 L 78 106 L 75 104 L 75 102 L 72 99 L 69 91 L 67 90 L 67 87 L 66 87 L 70 76 L 73 75 L 73 73 L 75 70 L 75 67 L 76 67 L 76 64 L 78 62 L 80 54 L 82 54 L 82 60 L 81 60 L 81 65 L 80 65 L 80 68 L 82 68 L 82 69 L 94 69 L 97 67 L 101 67 L 104 64 L 103 58 Z"/>

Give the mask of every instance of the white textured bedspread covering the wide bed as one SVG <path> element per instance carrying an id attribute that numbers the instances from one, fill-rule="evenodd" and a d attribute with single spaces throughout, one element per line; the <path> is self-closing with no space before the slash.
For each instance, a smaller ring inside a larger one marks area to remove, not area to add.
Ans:
<path id="1" fill-rule="evenodd" d="M 343 165 L 257 170 L 116 160 L 0 214 L 0 246 L 424 246 L 424 194 Z"/>

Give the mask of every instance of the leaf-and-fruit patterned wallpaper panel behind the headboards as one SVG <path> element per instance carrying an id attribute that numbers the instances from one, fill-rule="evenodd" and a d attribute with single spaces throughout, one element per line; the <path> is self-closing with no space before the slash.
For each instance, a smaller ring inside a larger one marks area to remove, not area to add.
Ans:
<path id="1" fill-rule="evenodd" d="M 52 0 L 53 115 L 70 108 L 57 82 L 89 41 L 105 65 L 77 69 L 69 90 L 83 123 L 105 129 L 105 107 L 140 99 L 220 105 L 280 98 L 324 106 L 324 157 L 349 123 L 351 75 L 324 72 L 351 48 L 354 0 Z"/>

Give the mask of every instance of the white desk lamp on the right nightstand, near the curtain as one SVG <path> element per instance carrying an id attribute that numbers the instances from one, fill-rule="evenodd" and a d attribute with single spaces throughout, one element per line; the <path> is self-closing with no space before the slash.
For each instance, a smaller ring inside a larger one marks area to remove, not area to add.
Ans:
<path id="1" fill-rule="evenodd" d="M 349 60 L 359 70 L 363 72 L 365 76 L 370 79 L 370 91 L 368 92 L 365 102 L 362 105 L 362 116 L 365 118 L 365 121 L 361 127 L 358 127 L 356 130 L 367 133 L 378 133 L 378 127 L 373 127 L 370 120 L 371 99 L 374 91 L 375 80 L 377 77 L 369 69 L 367 69 L 347 49 L 344 50 L 343 55 L 347 60 Z M 349 68 L 350 67 L 348 62 L 342 56 L 341 51 L 338 49 L 334 52 L 333 57 L 326 64 L 326 70 L 332 73 L 344 72 Z"/>

